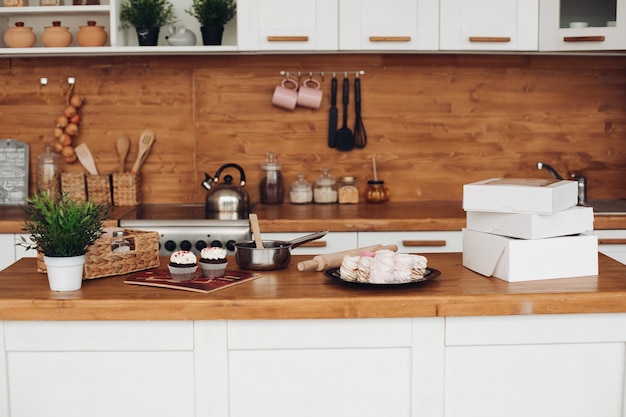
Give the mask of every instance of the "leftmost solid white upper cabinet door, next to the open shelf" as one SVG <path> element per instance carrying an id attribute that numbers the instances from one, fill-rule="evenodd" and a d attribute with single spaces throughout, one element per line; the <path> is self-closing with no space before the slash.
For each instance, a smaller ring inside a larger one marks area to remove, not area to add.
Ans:
<path id="1" fill-rule="evenodd" d="M 239 0 L 240 50 L 337 50 L 337 0 Z"/>

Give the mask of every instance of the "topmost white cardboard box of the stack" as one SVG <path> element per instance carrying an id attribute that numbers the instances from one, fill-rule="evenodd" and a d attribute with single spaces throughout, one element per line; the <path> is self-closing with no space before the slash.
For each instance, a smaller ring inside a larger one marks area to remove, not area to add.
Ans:
<path id="1" fill-rule="evenodd" d="M 578 203 L 578 182 L 491 178 L 463 186 L 465 211 L 554 214 Z"/>

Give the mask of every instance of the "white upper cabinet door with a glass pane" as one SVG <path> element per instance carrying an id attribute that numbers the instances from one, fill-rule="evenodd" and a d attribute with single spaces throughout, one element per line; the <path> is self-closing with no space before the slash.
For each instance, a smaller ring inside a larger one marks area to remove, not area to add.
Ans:
<path id="1" fill-rule="evenodd" d="M 542 0 L 542 51 L 626 49 L 626 0 Z"/>

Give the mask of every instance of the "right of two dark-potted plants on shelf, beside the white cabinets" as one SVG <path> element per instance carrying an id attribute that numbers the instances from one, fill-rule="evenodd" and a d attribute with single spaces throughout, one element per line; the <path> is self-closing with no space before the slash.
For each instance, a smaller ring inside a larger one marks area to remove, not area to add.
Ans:
<path id="1" fill-rule="evenodd" d="M 200 22 L 202 43 L 221 45 L 224 25 L 237 13 L 236 0 L 193 0 L 185 12 Z"/>

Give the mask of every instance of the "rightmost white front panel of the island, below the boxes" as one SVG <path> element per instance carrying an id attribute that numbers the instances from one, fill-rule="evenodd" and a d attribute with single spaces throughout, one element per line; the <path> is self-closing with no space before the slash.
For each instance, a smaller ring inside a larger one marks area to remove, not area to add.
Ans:
<path id="1" fill-rule="evenodd" d="M 446 319 L 446 417 L 622 416 L 626 315 Z"/>

